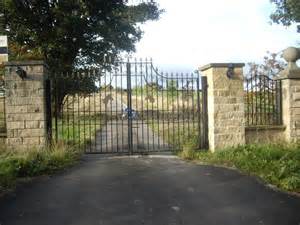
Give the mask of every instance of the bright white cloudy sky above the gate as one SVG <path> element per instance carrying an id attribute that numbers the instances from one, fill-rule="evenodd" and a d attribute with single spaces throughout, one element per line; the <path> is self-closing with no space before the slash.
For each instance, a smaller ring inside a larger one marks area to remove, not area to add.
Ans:
<path id="1" fill-rule="evenodd" d="M 271 25 L 269 0 L 158 0 L 160 20 L 142 25 L 134 57 L 162 70 L 193 71 L 207 63 L 261 62 L 267 51 L 299 46 L 296 25 Z"/>

